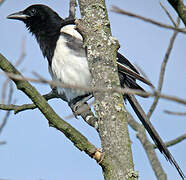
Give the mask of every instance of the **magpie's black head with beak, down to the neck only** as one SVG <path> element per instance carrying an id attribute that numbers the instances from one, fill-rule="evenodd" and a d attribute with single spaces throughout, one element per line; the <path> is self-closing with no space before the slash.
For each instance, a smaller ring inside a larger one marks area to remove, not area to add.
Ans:
<path id="1" fill-rule="evenodd" d="M 8 19 L 23 21 L 26 27 L 35 34 L 53 34 L 60 30 L 63 19 L 51 8 L 42 4 L 29 6 L 23 11 L 10 14 Z"/>

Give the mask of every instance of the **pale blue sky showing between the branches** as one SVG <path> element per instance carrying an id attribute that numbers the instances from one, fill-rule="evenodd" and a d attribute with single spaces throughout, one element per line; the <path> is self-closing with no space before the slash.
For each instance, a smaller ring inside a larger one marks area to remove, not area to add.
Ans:
<path id="1" fill-rule="evenodd" d="M 166 0 L 161 1 L 176 19 L 176 13 Z M 28 33 L 23 23 L 6 19 L 6 16 L 23 10 L 32 4 L 42 3 L 50 6 L 61 17 L 68 16 L 68 1 L 42 0 L 6 0 L 0 6 L 0 52 L 14 63 L 21 52 L 21 41 L 25 38 L 26 57 L 19 70 L 24 69 L 26 77 L 33 77 L 32 72 L 50 79 L 46 59 L 43 58 L 34 37 Z M 159 0 L 115 0 L 107 1 L 107 7 L 119 6 L 127 11 L 140 14 L 154 20 L 171 24 L 165 12 L 159 5 Z M 78 18 L 80 15 L 78 14 Z M 152 83 L 157 86 L 160 66 L 167 50 L 173 32 L 141 20 L 109 12 L 111 30 L 120 42 L 120 52 L 132 63 L 138 64 Z M 182 24 L 183 27 L 183 24 Z M 186 99 L 186 36 L 179 34 L 166 67 L 163 93 Z M 4 76 L 1 74 L 0 80 Z M 48 85 L 33 84 L 40 93 L 50 91 Z M 146 86 L 144 88 L 147 89 Z M 149 89 L 147 89 L 149 90 Z M 17 104 L 31 101 L 20 91 L 15 89 L 14 99 Z M 139 98 L 141 105 L 147 112 L 152 98 Z M 49 101 L 56 112 L 65 119 L 71 114 L 65 102 L 58 99 Z M 131 112 L 131 108 L 127 105 Z M 186 132 L 186 117 L 167 115 L 163 110 L 185 111 L 185 106 L 175 102 L 160 100 L 151 121 L 164 141 L 172 140 Z M 0 117 L 3 117 L 1 112 Z M 136 118 L 136 117 L 135 117 Z M 137 118 L 136 118 L 137 119 Z M 97 132 L 89 127 L 81 118 L 67 120 L 72 126 L 85 135 L 96 147 L 100 147 Z M 132 141 L 135 170 L 139 171 L 139 180 L 155 180 L 154 172 L 148 162 L 143 147 L 136 138 L 136 133 L 129 128 Z M 102 169 L 95 160 L 80 152 L 59 131 L 48 126 L 47 120 L 39 110 L 11 113 L 8 123 L 0 135 L 0 141 L 6 145 L 0 146 L 0 178 L 9 180 L 103 180 Z M 179 143 L 169 150 L 186 174 L 186 141 Z M 180 179 L 176 169 L 170 165 L 157 150 L 169 180 Z"/>

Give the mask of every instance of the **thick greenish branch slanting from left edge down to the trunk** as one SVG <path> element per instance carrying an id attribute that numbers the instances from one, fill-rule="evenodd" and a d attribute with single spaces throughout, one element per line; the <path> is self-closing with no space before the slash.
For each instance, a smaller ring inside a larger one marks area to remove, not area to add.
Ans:
<path id="1" fill-rule="evenodd" d="M 0 62 L 0 68 L 3 71 L 21 76 L 20 72 L 17 71 L 17 69 L 1 54 Z M 12 80 L 16 84 L 17 88 L 24 92 L 33 101 L 33 103 L 49 121 L 49 124 L 52 124 L 53 127 L 61 131 L 80 151 L 84 151 L 90 157 L 93 157 L 97 148 L 92 145 L 79 131 L 61 119 L 49 106 L 44 97 L 42 97 L 30 83 L 25 80 Z"/>

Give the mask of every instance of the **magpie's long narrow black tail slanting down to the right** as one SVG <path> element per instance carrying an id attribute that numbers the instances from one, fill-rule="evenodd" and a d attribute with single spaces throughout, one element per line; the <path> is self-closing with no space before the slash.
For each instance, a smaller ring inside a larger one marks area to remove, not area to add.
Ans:
<path id="1" fill-rule="evenodd" d="M 151 122 L 148 120 L 145 112 L 143 111 L 142 107 L 138 103 L 137 99 L 134 97 L 134 95 L 126 95 L 126 98 L 129 101 L 130 105 L 132 106 L 134 112 L 136 113 L 136 115 L 138 116 L 140 121 L 142 122 L 143 126 L 145 127 L 145 129 L 148 131 L 149 135 L 151 136 L 151 138 L 155 142 L 155 144 L 158 147 L 159 151 L 161 153 L 163 153 L 165 158 L 171 164 L 173 164 L 175 166 L 175 168 L 177 169 L 177 171 L 180 174 L 180 176 L 182 177 L 182 179 L 185 179 L 185 175 L 183 174 L 181 168 L 177 164 L 176 160 L 173 158 L 172 154 L 167 149 L 166 145 L 162 141 L 162 139 L 159 136 L 159 134 L 157 133 L 157 131 L 154 129 L 154 127 L 151 124 Z"/>

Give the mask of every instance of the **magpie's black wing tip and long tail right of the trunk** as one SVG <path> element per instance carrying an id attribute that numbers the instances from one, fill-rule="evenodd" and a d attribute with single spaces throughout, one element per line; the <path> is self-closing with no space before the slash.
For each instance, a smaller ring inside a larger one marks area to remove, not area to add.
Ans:
<path id="1" fill-rule="evenodd" d="M 136 79 L 153 87 L 153 85 L 148 80 L 140 76 L 136 68 L 124 56 L 122 56 L 120 53 L 117 53 L 117 58 L 118 58 L 117 65 L 118 65 L 119 78 L 120 78 L 120 83 L 122 87 L 128 87 L 131 89 L 145 91 L 142 87 L 140 87 L 136 83 Z M 138 103 L 134 95 L 126 94 L 124 95 L 124 98 L 126 98 L 128 102 L 130 103 L 130 105 L 132 106 L 134 112 L 136 113 L 139 120 L 142 122 L 143 126 L 145 127 L 145 129 L 147 130 L 147 132 L 149 133 L 149 135 L 151 136 L 151 138 L 157 145 L 159 151 L 163 153 L 165 158 L 175 166 L 181 178 L 185 179 L 185 175 L 183 174 L 181 168 L 179 167 L 176 160 L 174 159 L 174 157 L 171 155 L 171 153 L 167 149 L 165 143 L 162 141 L 161 137 L 159 136 L 157 131 L 154 129 L 151 122 L 148 120 L 145 112 L 141 108 L 140 104 Z"/>

